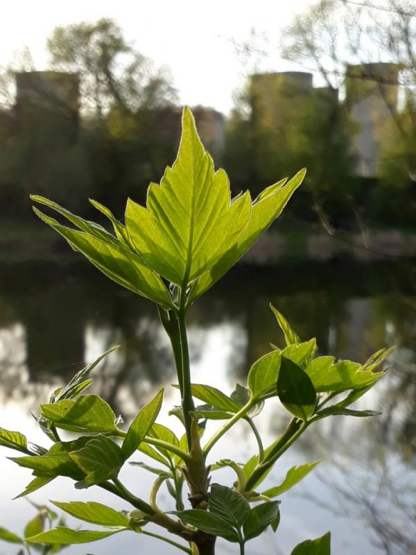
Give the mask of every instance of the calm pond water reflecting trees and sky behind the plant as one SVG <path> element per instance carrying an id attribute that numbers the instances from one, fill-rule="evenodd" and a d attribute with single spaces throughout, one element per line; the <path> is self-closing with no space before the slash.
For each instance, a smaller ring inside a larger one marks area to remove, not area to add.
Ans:
<path id="1" fill-rule="evenodd" d="M 78 260 L 78 259 L 76 259 Z M 273 304 L 302 339 L 316 336 L 322 354 L 364 361 L 384 345 L 397 345 L 390 357 L 393 371 L 361 403 L 380 409 L 376 418 L 335 417 L 318 422 L 301 438 L 268 477 L 279 484 L 288 468 L 306 461 L 322 463 L 302 484 L 281 496 L 281 524 L 248 544 L 248 555 L 289 554 L 307 538 L 332 532 L 333 553 L 349 555 L 416 553 L 415 398 L 416 287 L 413 261 L 354 264 L 295 263 L 239 266 L 189 314 L 193 380 L 230 392 L 244 383 L 250 364 L 281 345 L 281 335 L 268 309 Z M 166 412 L 179 402 L 169 384 L 175 375 L 168 341 L 155 307 L 112 284 L 84 262 L 3 264 L 0 276 L 0 425 L 25 432 L 31 441 L 48 444 L 31 411 L 50 391 L 68 380 L 85 362 L 112 345 L 122 348 L 98 370 L 94 393 L 103 395 L 125 420 L 135 416 L 160 386 L 166 386 Z M 286 413 L 270 400 L 258 417 L 266 444 L 281 432 Z M 163 416 L 180 434 L 175 417 Z M 215 429 L 212 423 L 206 436 Z M 211 461 L 232 457 L 245 461 L 255 444 L 250 429 L 237 425 L 231 437 L 216 445 Z M 34 515 L 25 499 L 11 501 L 24 488 L 28 470 L 6 459 L 1 450 L 0 526 L 21 533 Z M 137 454 L 132 460 L 144 460 Z M 149 479 L 125 466 L 121 479 L 146 497 Z M 220 470 L 214 480 L 234 479 Z M 31 499 L 99 500 L 128 509 L 121 499 L 98 488 L 76 491 L 69 479 L 58 479 Z M 161 504 L 171 508 L 168 497 Z M 68 518 L 69 524 L 75 524 Z M 86 525 L 85 528 L 91 528 Z M 174 554 L 152 538 L 121 533 L 94 545 L 70 547 L 69 555 L 148 552 Z M 15 555 L 16 546 L 0 543 L 0 554 Z M 219 554 L 237 553 L 235 545 L 218 542 Z"/>

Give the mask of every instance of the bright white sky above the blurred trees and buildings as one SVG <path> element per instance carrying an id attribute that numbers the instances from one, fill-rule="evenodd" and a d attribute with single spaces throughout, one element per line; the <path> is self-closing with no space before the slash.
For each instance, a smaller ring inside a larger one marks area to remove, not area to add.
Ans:
<path id="1" fill-rule="evenodd" d="M 125 38 L 156 65 L 167 65 L 180 101 L 210 105 L 225 113 L 232 93 L 247 74 L 232 40 L 248 40 L 250 29 L 266 33 L 260 42 L 268 56 L 258 69 L 300 70 L 279 58 L 281 28 L 312 0 L 14 0 L 4 1 L 0 17 L 0 65 L 28 46 L 36 69 L 47 65 L 46 37 L 57 25 L 112 17 Z"/>

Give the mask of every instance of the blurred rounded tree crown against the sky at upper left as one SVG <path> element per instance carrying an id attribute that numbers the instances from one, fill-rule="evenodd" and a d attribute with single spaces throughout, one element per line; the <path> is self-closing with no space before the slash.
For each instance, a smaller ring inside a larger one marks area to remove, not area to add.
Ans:
<path id="1" fill-rule="evenodd" d="M 100 118 L 111 105 L 135 112 L 177 101 L 166 69 L 154 69 L 112 19 L 56 27 L 47 46 L 53 69 L 80 74 L 84 108 Z"/>

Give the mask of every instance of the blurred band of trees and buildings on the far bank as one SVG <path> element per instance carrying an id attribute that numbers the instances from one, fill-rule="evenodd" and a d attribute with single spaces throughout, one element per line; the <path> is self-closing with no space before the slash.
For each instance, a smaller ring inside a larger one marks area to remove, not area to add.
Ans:
<path id="1" fill-rule="evenodd" d="M 334 11 L 333 2 L 320 2 L 309 27 L 322 17 L 330 22 Z M 303 60 L 311 48 L 304 22 L 297 19 L 286 38 L 288 58 Z M 323 31 L 313 37 L 312 59 L 325 39 Z M 35 193 L 86 216 L 92 197 L 121 218 L 125 198 L 143 203 L 149 182 L 159 182 L 175 158 L 181 109 L 171 76 L 110 19 L 58 27 L 47 44 L 48 71 L 35 71 L 24 53 L 0 77 L 0 214 L 27 221 L 28 194 Z M 256 196 L 307 167 L 289 216 L 347 230 L 411 228 L 413 89 L 399 110 L 393 62 L 350 65 L 341 84 L 327 73 L 319 88 L 305 71 L 254 74 L 227 121 L 215 110 L 194 109 L 202 140 L 235 194 L 250 189 Z"/>

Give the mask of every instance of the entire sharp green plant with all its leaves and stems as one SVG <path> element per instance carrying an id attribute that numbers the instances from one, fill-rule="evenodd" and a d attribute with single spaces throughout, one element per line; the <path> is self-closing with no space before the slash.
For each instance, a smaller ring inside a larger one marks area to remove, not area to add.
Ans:
<path id="1" fill-rule="evenodd" d="M 122 287 L 157 304 L 160 320 L 171 341 L 177 369 L 181 406 L 172 414 L 180 418 L 184 434 L 178 438 L 157 422 L 163 390 L 142 407 L 129 427 L 96 395 L 85 393 L 90 373 L 103 357 L 54 391 L 40 407 L 38 422 L 52 445 L 32 445 L 19 432 L 1 430 L 0 443 L 20 452 L 12 460 L 33 470 L 33 480 L 20 495 L 27 495 L 58 477 L 75 481 L 76 488 L 101 487 L 124 499 L 122 513 L 94 502 L 55 502 L 67 513 L 98 524 L 101 530 L 72 530 L 58 526 L 28 536 L 31 543 L 62 545 L 84 543 L 113 533 L 134 531 L 155 536 L 189 554 L 214 554 L 218 536 L 239 544 L 266 529 L 277 530 L 279 500 L 318 464 L 304 463 L 288 470 L 284 481 L 259 490 L 286 450 L 314 422 L 338 414 L 372 416 L 371 411 L 349 409 L 387 370 L 381 370 L 389 350 L 376 352 L 365 364 L 335 361 L 318 355 L 315 339 L 302 342 L 279 311 L 272 307 L 286 347 L 272 350 L 254 362 L 247 387 L 237 384 L 225 393 L 205 384 L 193 384 L 189 364 L 186 316 L 192 303 L 231 268 L 281 213 L 300 186 L 304 171 L 264 189 L 252 201 L 248 192 L 231 198 L 227 175 L 214 170 L 189 109 L 182 116 L 182 139 L 173 167 L 166 169 L 160 185 L 148 189 L 147 205 L 128 200 L 125 224 L 106 207 L 92 205 L 110 221 L 113 233 L 41 196 L 35 203 L 54 210 L 73 225 L 67 227 L 35 207 L 69 245 Z M 75 229 L 74 229 L 75 228 Z M 204 404 L 195 405 L 195 400 Z M 254 423 L 265 402 L 280 402 L 288 411 L 286 430 L 264 446 Z M 213 436 L 202 435 L 207 420 L 223 420 Z M 212 447 L 239 421 L 245 421 L 258 444 L 258 452 L 245 463 L 210 460 Z M 64 441 L 60 430 L 77 434 Z M 143 452 L 157 467 L 138 461 L 155 475 L 148 501 L 137 497 L 119 479 L 123 465 L 135 452 Z M 234 484 L 210 484 L 211 470 L 228 466 Z M 173 497 L 171 511 L 159 509 L 157 496 L 166 487 Z M 187 490 L 189 505 L 183 499 Z M 153 523 L 181 539 L 146 530 Z M 188 547 L 189 545 L 189 547 Z M 308 540 L 293 554 L 329 554 L 329 534 Z"/>

